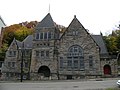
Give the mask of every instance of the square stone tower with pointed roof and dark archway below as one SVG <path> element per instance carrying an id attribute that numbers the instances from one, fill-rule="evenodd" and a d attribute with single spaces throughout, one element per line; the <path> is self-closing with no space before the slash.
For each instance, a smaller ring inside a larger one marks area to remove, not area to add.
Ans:
<path id="1" fill-rule="evenodd" d="M 38 23 L 33 35 L 31 57 L 31 79 L 58 79 L 55 43 L 59 39 L 59 29 L 56 27 L 50 13 Z"/>

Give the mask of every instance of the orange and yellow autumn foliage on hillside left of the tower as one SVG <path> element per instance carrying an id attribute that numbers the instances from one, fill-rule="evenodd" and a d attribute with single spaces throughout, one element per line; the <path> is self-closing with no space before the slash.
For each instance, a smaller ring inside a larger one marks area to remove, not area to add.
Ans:
<path id="1" fill-rule="evenodd" d="M 25 26 L 22 24 L 14 24 L 4 28 L 3 31 L 3 40 L 2 40 L 2 47 L 0 48 L 0 60 L 4 60 L 5 52 L 14 38 L 19 41 L 23 41 L 28 35 L 34 32 L 34 25 L 31 23 L 30 25 Z"/>

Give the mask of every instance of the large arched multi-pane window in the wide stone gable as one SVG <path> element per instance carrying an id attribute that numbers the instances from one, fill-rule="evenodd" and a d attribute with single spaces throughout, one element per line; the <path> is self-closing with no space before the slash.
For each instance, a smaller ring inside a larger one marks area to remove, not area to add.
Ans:
<path id="1" fill-rule="evenodd" d="M 73 45 L 68 49 L 67 67 L 68 70 L 84 69 L 83 49 L 79 45 Z"/>

